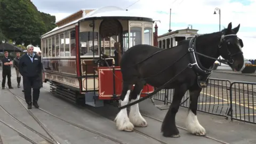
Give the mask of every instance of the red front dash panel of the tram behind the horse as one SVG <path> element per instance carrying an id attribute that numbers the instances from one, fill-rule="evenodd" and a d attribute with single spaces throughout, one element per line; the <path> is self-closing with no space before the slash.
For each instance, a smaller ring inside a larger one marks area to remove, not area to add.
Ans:
<path id="1" fill-rule="evenodd" d="M 113 97 L 114 94 L 114 78 L 113 68 L 98 67 L 99 73 L 99 99 L 108 100 Z M 122 73 L 120 67 L 115 67 L 115 94 L 119 97 L 122 93 Z M 141 97 L 145 97 L 147 93 L 154 92 L 154 87 L 151 85 L 145 85 L 141 92 Z"/>

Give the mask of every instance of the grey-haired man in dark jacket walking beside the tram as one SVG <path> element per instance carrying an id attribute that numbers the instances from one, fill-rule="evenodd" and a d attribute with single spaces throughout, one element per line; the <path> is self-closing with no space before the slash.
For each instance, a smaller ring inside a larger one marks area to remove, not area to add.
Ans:
<path id="1" fill-rule="evenodd" d="M 22 55 L 19 63 L 19 71 L 23 77 L 23 89 L 25 90 L 25 100 L 28 104 L 28 109 L 32 108 L 32 105 L 36 108 L 38 106 L 38 98 L 40 93 L 40 73 L 42 70 L 42 61 L 34 53 L 34 46 L 27 46 L 27 53 Z M 33 103 L 31 100 L 31 88 L 33 88 Z"/>

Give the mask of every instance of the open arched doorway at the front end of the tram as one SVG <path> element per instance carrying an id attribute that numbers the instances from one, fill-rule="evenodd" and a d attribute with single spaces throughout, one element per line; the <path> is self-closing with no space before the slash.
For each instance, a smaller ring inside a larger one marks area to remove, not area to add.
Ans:
<path id="1" fill-rule="evenodd" d="M 100 25 L 101 54 L 109 55 L 115 59 L 119 66 L 122 55 L 122 25 L 118 20 L 103 20 Z M 118 55 L 118 57 L 117 57 Z"/>

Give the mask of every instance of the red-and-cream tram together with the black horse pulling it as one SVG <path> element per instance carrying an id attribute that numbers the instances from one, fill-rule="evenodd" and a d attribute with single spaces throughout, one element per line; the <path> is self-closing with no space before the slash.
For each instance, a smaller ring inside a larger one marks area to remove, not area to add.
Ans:
<path id="1" fill-rule="evenodd" d="M 240 25 L 232 29 L 230 22 L 217 33 L 194 34 L 174 43 L 177 38 L 161 49 L 153 34 L 154 22 L 115 6 L 69 15 L 42 35 L 43 81 L 50 83 L 54 95 L 92 107 L 119 100 L 121 107 L 115 117 L 119 131 L 146 127 L 138 102 L 162 89 L 174 89 L 162 123 L 164 137 L 180 137 L 175 115 L 188 90 L 187 131 L 205 135 L 196 116 L 197 99 L 220 55 L 225 60 L 218 61 L 236 71 L 244 68 L 242 39 L 236 35 Z"/>

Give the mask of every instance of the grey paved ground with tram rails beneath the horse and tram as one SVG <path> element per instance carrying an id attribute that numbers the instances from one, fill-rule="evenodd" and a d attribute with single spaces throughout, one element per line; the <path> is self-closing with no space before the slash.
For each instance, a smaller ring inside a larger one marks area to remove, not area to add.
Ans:
<path id="1" fill-rule="evenodd" d="M 12 70 L 12 72 L 15 73 L 14 70 Z M 21 92 L 22 87 L 19 89 L 17 88 L 15 77 L 12 77 L 12 84 L 14 89 L 11 90 L 11 92 L 23 98 L 23 93 Z M 49 84 L 44 83 L 44 87 L 41 89 L 41 96 L 38 101 L 39 106 L 42 109 L 49 111 L 51 114 L 65 119 L 68 122 L 75 123 L 82 127 L 87 127 L 90 130 L 99 132 L 103 135 L 107 135 L 108 137 L 117 139 L 123 143 L 220 143 L 205 137 L 197 137 L 195 135 L 191 135 L 186 130 L 182 129 L 182 127 L 185 127 L 187 108 L 180 107 L 176 117 L 176 124 L 181 126 L 179 128 L 181 137 L 164 138 L 160 132 L 162 123 L 155 121 L 152 118 L 143 116 L 148 122 L 148 126 L 137 128 L 137 130 L 140 132 L 119 132 L 116 130 L 115 123 L 106 118 L 115 117 L 115 115 L 118 113 L 118 109 L 116 107 L 106 105 L 105 107 L 100 108 L 79 108 L 69 102 L 66 102 L 65 100 L 53 97 L 49 90 Z M 0 90 L 0 105 L 11 115 L 19 119 L 19 121 L 25 123 L 35 131 L 50 138 L 45 130 L 39 126 L 35 119 L 31 117 L 28 111 L 19 103 L 20 101 L 23 105 L 25 105 L 25 101 L 20 98 L 16 99 L 11 92 L 8 90 Z M 159 105 L 162 104 L 162 102 L 159 101 L 156 101 L 156 103 Z M 144 115 L 162 120 L 166 114 L 166 110 L 157 109 L 150 102 L 150 100 L 142 101 L 139 105 L 141 113 Z M 116 143 L 106 137 L 100 136 L 99 134 L 85 131 L 81 127 L 79 128 L 70 123 L 62 121 L 61 119 L 47 114 L 42 110 L 35 109 L 34 107 L 29 111 L 33 113 L 37 119 L 39 119 L 39 122 L 41 122 L 43 126 L 46 127 L 46 130 L 51 133 L 52 137 L 59 141 L 59 143 Z M 201 124 L 205 127 L 207 136 L 209 137 L 213 137 L 227 143 L 256 143 L 255 124 L 247 124 L 238 121 L 232 122 L 225 119 L 225 117 L 214 116 L 201 112 L 198 112 L 197 115 L 199 122 L 201 122 Z M 2 122 L 14 127 L 15 130 L 18 130 L 20 133 L 36 141 L 36 143 L 47 143 L 45 139 L 39 137 L 38 134 L 31 132 L 23 125 L 15 121 L 1 108 L 0 119 Z M 0 135 L 4 144 L 31 143 L 28 140 L 22 138 L 13 129 L 4 125 L 2 122 L 0 123 Z M 154 139 L 148 136 L 153 137 Z M 158 139 L 162 142 L 155 139 Z"/>

